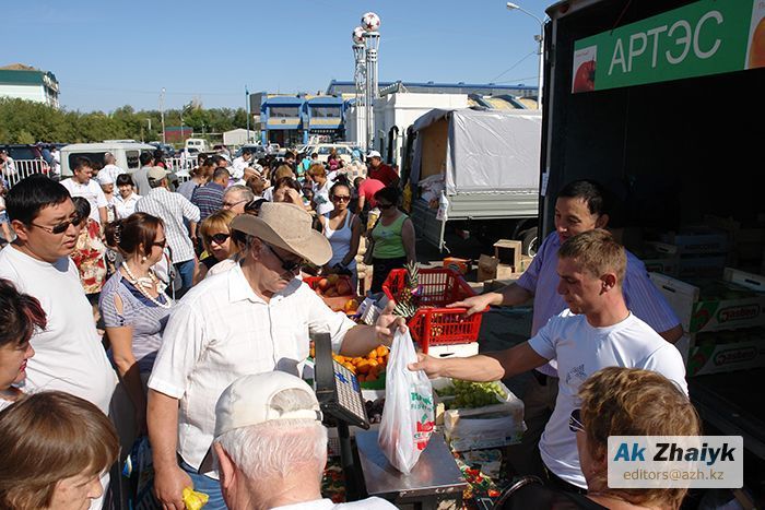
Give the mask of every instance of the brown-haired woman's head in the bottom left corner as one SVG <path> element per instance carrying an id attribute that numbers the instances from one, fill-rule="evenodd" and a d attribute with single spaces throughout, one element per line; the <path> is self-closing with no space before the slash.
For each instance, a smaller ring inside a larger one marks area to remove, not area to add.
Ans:
<path id="1" fill-rule="evenodd" d="M 0 508 L 87 509 L 118 451 L 114 425 L 90 402 L 60 391 L 26 396 L 0 413 Z"/>

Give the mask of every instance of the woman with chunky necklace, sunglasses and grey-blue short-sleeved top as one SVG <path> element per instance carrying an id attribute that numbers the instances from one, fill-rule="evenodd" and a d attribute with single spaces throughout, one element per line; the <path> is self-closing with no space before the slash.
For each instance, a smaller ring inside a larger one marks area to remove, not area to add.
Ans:
<path id="1" fill-rule="evenodd" d="M 158 217 L 133 213 L 110 224 L 106 239 L 123 261 L 104 285 L 101 313 L 111 359 L 136 407 L 136 426 L 145 431 L 145 382 L 174 305 L 152 270 L 164 256 L 165 227 Z"/>

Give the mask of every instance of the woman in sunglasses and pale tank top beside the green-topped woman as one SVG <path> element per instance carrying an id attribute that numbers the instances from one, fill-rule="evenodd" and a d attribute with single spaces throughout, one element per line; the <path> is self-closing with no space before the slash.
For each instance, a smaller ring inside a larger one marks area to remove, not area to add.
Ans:
<path id="1" fill-rule="evenodd" d="M 337 182 L 329 190 L 329 198 L 334 209 L 319 216 L 321 232 L 332 246 L 332 258 L 322 268 L 323 274 L 351 274 L 354 288 L 358 283 L 356 272 L 356 253 L 362 237 L 362 223 L 349 210 L 351 188 L 344 182 Z"/>

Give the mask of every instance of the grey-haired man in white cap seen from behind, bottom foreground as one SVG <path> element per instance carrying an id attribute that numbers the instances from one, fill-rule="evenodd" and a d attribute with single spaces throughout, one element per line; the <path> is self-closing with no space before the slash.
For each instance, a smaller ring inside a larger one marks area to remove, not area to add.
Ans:
<path id="1" fill-rule="evenodd" d="M 334 505 L 321 498 L 327 429 L 314 390 L 285 372 L 245 376 L 215 406 L 215 440 L 208 455 L 221 472 L 232 510 L 252 508 L 387 510 L 380 498 Z"/>

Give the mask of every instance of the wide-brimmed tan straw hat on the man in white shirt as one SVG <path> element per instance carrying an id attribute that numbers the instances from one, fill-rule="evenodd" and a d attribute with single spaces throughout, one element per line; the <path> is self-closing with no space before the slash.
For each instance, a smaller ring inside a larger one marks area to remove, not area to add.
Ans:
<path id="1" fill-rule="evenodd" d="M 258 216 L 240 214 L 231 227 L 298 254 L 316 265 L 323 265 L 332 258 L 332 247 L 322 234 L 314 230 L 310 214 L 295 204 L 264 203 Z"/>

